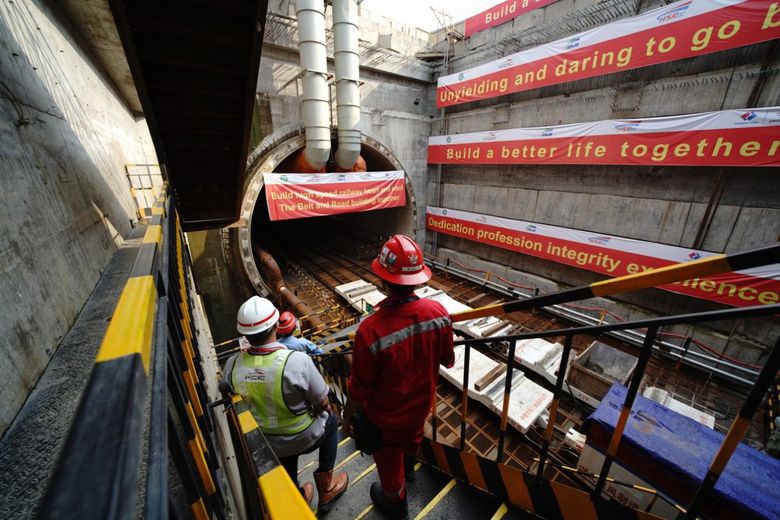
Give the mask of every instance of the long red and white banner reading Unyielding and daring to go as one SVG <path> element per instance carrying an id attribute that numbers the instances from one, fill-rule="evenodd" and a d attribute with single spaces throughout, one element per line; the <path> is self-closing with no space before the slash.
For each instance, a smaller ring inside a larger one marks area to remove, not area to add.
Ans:
<path id="1" fill-rule="evenodd" d="M 439 108 L 458 105 L 778 37 L 776 1 L 684 0 L 441 77 L 436 101 Z"/>

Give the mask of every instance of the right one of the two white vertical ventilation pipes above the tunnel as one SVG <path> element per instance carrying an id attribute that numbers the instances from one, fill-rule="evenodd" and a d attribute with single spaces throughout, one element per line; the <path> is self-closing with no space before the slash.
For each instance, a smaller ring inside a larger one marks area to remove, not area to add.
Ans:
<path id="1" fill-rule="evenodd" d="M 333 32 L 339 131 L 336 164 L 349 170 L 360 156 L 360 57 L 355 0 L 333 0 Z"/>

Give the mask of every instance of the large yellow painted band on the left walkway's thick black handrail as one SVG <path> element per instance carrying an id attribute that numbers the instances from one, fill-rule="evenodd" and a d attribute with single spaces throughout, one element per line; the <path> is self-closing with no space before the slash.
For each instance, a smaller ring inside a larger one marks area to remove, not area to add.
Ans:
<path id="1" fill-rule="evenodd" d="M 95 362 L 140 354 L 144 371 L 148 374 L 156 309 L 157 289 L 152 276 L 128 279 Z"/>

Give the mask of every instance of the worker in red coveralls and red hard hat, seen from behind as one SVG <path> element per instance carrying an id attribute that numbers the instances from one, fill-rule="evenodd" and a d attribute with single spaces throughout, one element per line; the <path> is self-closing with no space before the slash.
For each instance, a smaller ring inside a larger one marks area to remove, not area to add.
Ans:
<path id="1" fill-rule="evenodd" d="M 380 512 L 405 518 L 404 466 L 411 473 L 439 365 L 455 363 L 452 320 L 440 303 L 414 294 L 415 286 L 431 278 L 431 270 L 411 238 L 391 237 L 371 268 L 384 280 L 388 297 L 355 333 L 345 425 L 351 431 L 352 415 L 362 407 L 381 431 L 383 446 L 374 453 L 381 485 L 371 485 L 371 501 Z"/>

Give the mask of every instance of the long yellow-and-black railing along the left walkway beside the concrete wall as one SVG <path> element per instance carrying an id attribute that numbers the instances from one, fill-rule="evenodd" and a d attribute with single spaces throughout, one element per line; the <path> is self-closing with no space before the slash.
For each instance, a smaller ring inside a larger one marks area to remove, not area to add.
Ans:
<path id="1" fill-rule="evenodd" d="M 151 208 L 41 504 L 42 518 L 134 516 L 142 473 L 147 516 L 167 517 L 166 454 L 176 464 L 194 517 L 225 518 L 189 307 L 185 275 L 191 264 L 169 205 L 161 196 Z M 141 472 L 144 441 L 146 471 Z"/>

